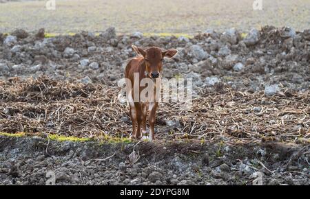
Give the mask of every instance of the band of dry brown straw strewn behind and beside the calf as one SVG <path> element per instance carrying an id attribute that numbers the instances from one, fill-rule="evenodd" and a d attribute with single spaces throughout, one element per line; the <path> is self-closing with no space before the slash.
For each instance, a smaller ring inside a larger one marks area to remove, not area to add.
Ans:
<path id="1" fill-rule="evenodd" d="M 119 89 L 42 77 L 0 81 L 0 132 L 52 133 L 75 137 L 129 137 L 132 126 Z M 309 143 L 310 93 L 220 92 L 199 89 L 191 110 L 160 104 L 156 138 L 231 142 Z M 168 126 L 171 122 L 175 126 Z"/>

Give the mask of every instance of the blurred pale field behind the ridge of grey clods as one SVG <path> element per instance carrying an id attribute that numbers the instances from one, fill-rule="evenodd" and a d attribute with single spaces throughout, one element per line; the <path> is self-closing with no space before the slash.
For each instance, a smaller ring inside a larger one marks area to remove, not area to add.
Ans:
<path id="1" fill-rule="evenodd" d="M 262 0 L 262 10 L 253 9 L 254 0 L 56 0 L 55 10 L 45 8 L 47 1 L 4 1 L 0 32 L 44 27 L 46 32 L 65 34 L 113 26 L 118 34 L 195 34 L 209 28 L 248 31 L 274 25 L 305 30 L 310 26 L 309 0 Z"/>

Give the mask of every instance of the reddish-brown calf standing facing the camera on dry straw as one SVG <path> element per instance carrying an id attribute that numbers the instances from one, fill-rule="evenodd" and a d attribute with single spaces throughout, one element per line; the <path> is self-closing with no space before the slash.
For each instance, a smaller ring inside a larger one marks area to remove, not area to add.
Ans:
<path id="1" fill-rule="evenodd" d="M 172 58 L 176 55 L 177 51 L 176 49 L 168 49 L 167 51 L 162 51 L 158 47 L 150 47 L 146 50 L 136 46 L 132 46 L 132 48 L 134 49 L 134 51 L 136 51 L 138 55 L 141 55 L 136 58 L 132 58 L 128 62 L 125 69 L 125 78 L 129 79 L 132 85 L 131 88 L 129 88 L 130 91 L 127 91 L 127 97 L 129 98 L 128 101 L 130 102 L 130 117 L 132 119 L 132 139 L 141 139 L 141 128 L 143 131 L 143 135 L 147 135 L 146 117 L 147 106 L 149 106 L 149 140 L 153 140 L 155 139 L 154 125 L 156 121 L 155 115 L 158 101 L 142 101 L 140 98 L 140 94 L 141 91 L 145 89 L 145 86 L 141 86 L 140 83 L 143 78 L 149 78 L 153 82 L 155 82 L 156 78 L 161 78 L 163 58 Z M 134 73 L 138 74 L 138 78 L 134 79 Z M 138 88 L 134 88 L 134 81 L 138 81 Z M 136 91 L 136 89 L 138 89 L 138 91 Z M 158 91 L 157 89 L 154 88 L 153 96 L 156 96 L 156 91 Z M 134 99 L 135 91 L 138 92 L 138 100 Z"/>

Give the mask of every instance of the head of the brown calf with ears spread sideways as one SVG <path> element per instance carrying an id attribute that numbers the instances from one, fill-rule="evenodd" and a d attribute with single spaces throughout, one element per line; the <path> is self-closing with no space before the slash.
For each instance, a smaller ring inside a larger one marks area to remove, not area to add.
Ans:
<path id="1" fill-rule="evenodd" d="M 163 58 L 172 58 L 177 54 L 176 49 L 168 49 L 162 51 L 158 47 L 150 47 L 148 49 L 142 49 L 141 47 L 132 46 L 137 54 L 141 54 L 145 59 L 145 71 L 149 78 L 156 79 L 161 75 L 163 68 Z"/>

